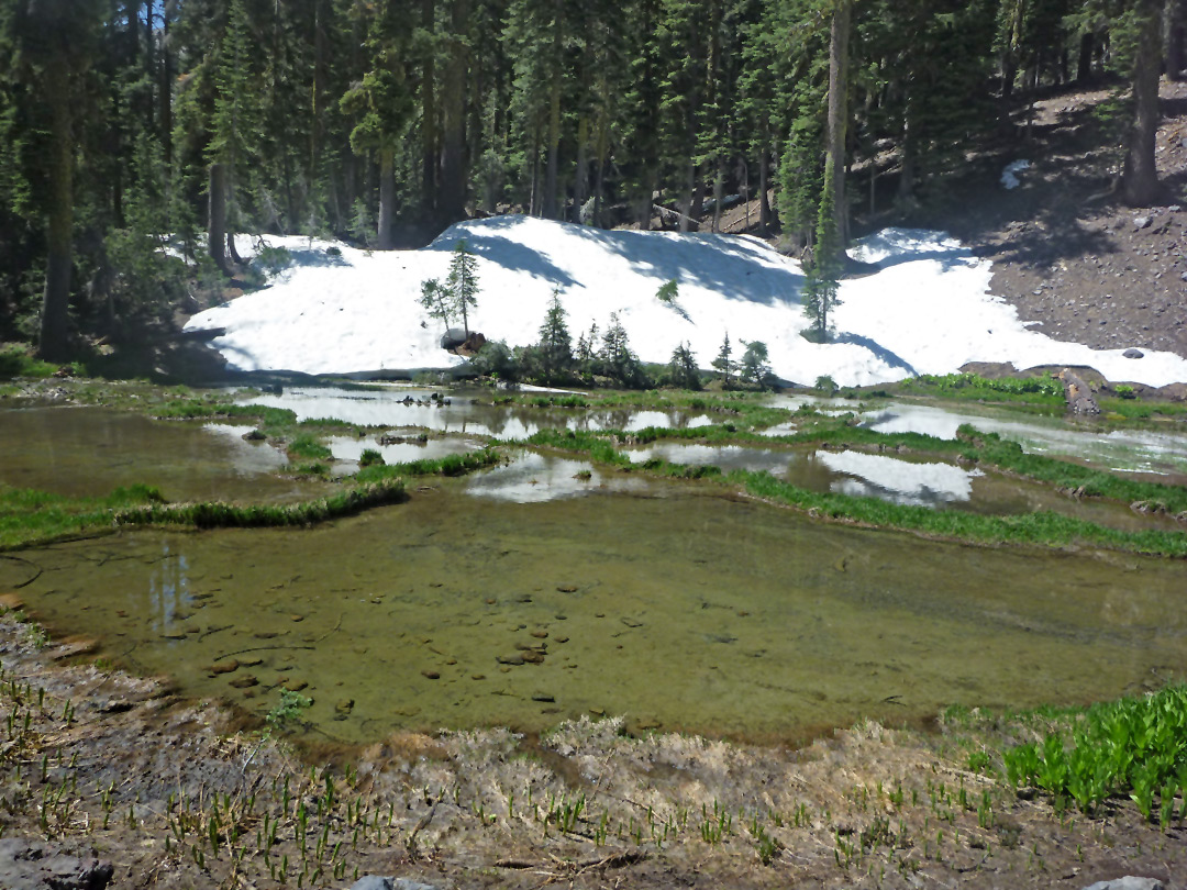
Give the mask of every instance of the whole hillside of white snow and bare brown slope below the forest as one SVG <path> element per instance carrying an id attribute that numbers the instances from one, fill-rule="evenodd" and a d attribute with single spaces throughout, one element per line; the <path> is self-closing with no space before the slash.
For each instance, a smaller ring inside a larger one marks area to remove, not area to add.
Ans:
<path id="1" fill-rule="evenodd" d="M 1094 109 L 1106 96 L 1041 98 L 1020 112 L 1030 120 L 1023 144 L 978 155 L 947 201 L 908 217 L 858 216 L 857 225 L 874 234 L 851 255 L 877 268 L 843 282 L 829 344 L 799 336 L 806 328 L 801 271 L 774 242 L 605 231 L 523 216 L 453 225 L 421 250 L 369 253 L 269 237 L 290 249 L 292 268 L 188 328 L 226 329 L 214 345 L 242 370 L 391 374 L 458 365 L 462 360 L 439 349 L 442 326 L 417 298 L 421 281 L 444 278 L 450 252 L 465 240 L 480 258 L 472 328 L 513 347 L 535 341 L 557 288 L 575 342 L 592 324 L 604 331 L 615 312 L 649 362 L 668 361 L 687 342 L 707 368 L 728 332 L 740 352 L 741 342 L 767 343 L 776 375 L 794 383 L 827 374 L 840 384 L 871 384 L 969 362 L 1079 364 L 1113 381 L 1183 382 L 1187 212 L 1169 202 L 1187 176 L 1187 84 L 1163 83 L 1157 157 L 1167 205 L 1159 208 L 1124 208 L 1109 192 L 1112 159 L 1094 147 Z M 1008 189 L 1002 171 L 1018 160 L 1029 166 Z M 738 231 L 756 217 L 756 202 L 735 205 L 722 229 Z M 915 228 L 888 228 L 904 222 Z M 669 280 L 679 286 L 674 306 L 655 298 Z M 1135 348 L 1141 358 L 1123 357 Z"/>

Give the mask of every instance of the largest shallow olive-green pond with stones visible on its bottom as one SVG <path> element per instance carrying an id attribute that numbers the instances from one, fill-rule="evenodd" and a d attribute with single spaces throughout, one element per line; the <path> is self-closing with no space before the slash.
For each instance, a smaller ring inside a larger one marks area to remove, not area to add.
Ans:
<path id="1" fill-rule="evenodd" d="M 799 738 L 1187 666 L 1182 562 L 821 526 L 696 485 L 525 504 L 475 482 L 316 529 L 31 549 L 0 559 L 0 590 L 189 693 L 262 714 L 301 688 L 345 742 L 588 712 Z"/>

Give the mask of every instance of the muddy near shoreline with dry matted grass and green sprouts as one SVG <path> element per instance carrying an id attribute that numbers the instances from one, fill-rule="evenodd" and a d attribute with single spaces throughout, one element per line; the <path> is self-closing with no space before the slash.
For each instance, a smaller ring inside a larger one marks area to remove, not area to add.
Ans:
<path id="1" fill-rule="evenodd" d="M 1164 833 L 1122 801 L 1090 819 L 1023 800 L 967 769 L 989 739 L 944 721 L 932 735 L 867 723 L 788 750 L 582 719 L 531 740 L 404 733 L 329 763 L 234 731 L 167 680 L 85 663 L 85 649 L 0 618 L 0 705 L 13 714 L 0 826 L 45 854 L 109 863 L 113 886 L 386 875 L 433 888 L 1084 888 L 1142 875 L 1181 888 L 1187 876 L 1181 826 Z"/>

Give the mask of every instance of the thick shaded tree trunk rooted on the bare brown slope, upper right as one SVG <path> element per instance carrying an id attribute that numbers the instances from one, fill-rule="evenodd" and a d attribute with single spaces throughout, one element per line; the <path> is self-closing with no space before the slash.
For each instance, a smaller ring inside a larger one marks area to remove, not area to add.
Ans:
<path id="1" fill-rule="evenodd" d="M 1140 0 L 1140 44 L 1134 63 L 1134 123 L 1125 146 L 1121 196 L 1130 206 L 1149 206 L 1160 195 L 1154 144 L 1159 131 L 1159 75 L 1162 70 L 1162 0 Z"/>

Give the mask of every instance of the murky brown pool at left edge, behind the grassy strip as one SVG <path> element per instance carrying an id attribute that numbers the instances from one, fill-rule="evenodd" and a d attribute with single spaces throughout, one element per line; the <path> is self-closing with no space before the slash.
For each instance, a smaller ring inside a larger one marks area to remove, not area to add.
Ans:
<path id="1" fill-rule="evenodd" d="M 170 501 L 286 502 L 310 483 L 277 476 L 287 460 L 249 427 L 150 420 L 89 407 L 0 411 L 0 483 L 71 497 L 144 483 Z"/>

